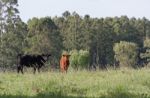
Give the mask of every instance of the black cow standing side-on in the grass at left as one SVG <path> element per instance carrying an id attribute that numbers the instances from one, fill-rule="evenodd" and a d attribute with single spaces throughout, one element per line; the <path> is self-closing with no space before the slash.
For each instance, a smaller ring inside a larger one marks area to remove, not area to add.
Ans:
<path id="1" fill-rule="evenodd" d="M 50 54 L 47 55 L 18 55 L 18 66 L 17 71 L 18 73 L 21 71 L 23 74 L 23 67 L 33 67 L 34 73 L 36 72 L 36 69 L 38 69 L 38 72 L 40 72 L 40 68 L 44 66 L 45 62 L 48 60 Z"/>

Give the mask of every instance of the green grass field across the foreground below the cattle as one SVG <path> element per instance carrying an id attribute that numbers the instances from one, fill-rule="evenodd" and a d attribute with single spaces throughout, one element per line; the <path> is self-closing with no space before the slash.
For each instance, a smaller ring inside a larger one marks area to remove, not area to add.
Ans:
<path id="1" fill-rule="evenodd" d="M 150 98 L 150 69 L 0 73 L 1 98 Z"/>

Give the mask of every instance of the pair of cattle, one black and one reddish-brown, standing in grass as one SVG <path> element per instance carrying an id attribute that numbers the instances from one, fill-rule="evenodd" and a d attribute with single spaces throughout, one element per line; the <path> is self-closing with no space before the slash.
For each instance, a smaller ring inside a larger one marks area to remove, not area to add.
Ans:
<path id="1" fill-rule="evenodd" d="M 33 67 L 34 73 L 36 70 L 40 72 L 40 68 L 44 66 L 45 62 L 49 59 L 51 54 L 41 54 L 41 55 L 18 55 L 18 64 L 17 64 L 17 72 L 23 74 L 23 68 Z M 60 59 L 60 71 L 67 72 L 69 67 L 69 57 L 68 54 L 63 54 Z"/>

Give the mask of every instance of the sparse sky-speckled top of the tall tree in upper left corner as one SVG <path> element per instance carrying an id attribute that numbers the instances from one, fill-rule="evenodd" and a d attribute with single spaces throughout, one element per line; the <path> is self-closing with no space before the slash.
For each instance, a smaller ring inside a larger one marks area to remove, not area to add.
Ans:
<path id="1" fill-rule="evenodd" d="M 0 32 L 7 32 L 7 25 L 14 24 L 19 18 L 18 0 L 0 0 Z"/>

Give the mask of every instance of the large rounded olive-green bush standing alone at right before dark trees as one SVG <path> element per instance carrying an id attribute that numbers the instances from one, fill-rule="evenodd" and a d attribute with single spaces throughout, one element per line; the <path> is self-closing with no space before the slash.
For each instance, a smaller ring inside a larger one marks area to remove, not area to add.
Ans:
<path id="1" fill-rule="evenodd" d="M 119 61 L 122 67 L 135 67 L 137 63 L 138 47 L 135 43 L 120 41 L 113 47 L 115 52 L 115 59 Z"/>

